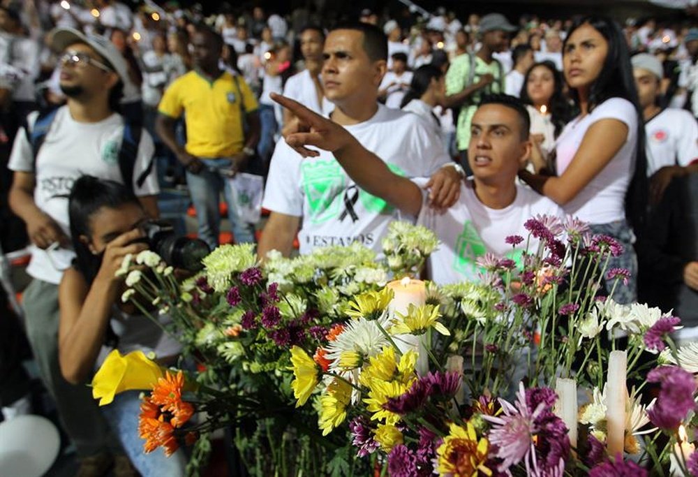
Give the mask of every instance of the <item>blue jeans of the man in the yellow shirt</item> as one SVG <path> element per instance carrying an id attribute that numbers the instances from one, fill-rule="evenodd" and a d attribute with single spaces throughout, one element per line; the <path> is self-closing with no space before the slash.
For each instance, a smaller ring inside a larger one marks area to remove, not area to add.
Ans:
<path id="1" fill-rule="evenodd" d="M 228 219 L 235 236 L 235 243 L 251 243 L 255 241 L 255 225 L 243 223 L 235 210 L 237 194 L 230 186 L 227 177 L 216 171 L 217 168 L 230 168 L 228 159 L 203 159 L 203 168 L 198 174 L 186 173 L 186 183 L 191 193 L 191 201 L 196 209 L 196 219 L 199 223 L 199 238 L 206 242 L 211 250 L 218 247 L 218 234 L 221 233 L 221 214 L 218 210 L 218 199 L 221 192 L 228 204 Z"/>

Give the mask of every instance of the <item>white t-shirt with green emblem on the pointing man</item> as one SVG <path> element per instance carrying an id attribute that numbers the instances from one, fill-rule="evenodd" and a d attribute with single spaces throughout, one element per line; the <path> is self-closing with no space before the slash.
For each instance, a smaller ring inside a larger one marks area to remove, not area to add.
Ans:
<path id="1" fill-rule="evenodd" d="M 521 267 L 521 254 L 526 250 L 528 230 L 523 227 L 528 219 L 538 214 L 564 217 L 559 205 L 545 196 L 517 184 L 517 197 L 503 209 L 483 205 L 475 195 L 474 183 L 463 181 L 461 198 L 443 215 L 424 205 L 417 223 L 433 230 L 440 245 L 431 254 L 427 266 L 431 279 L 437 284 L 477 281 L 477 259 L 488 252 L 511 258 Z M 509 235 L 521 235 L 517 247 L 507 244 Z M 535 253 L 537 239 L 530 237 L 528 250 Z"/>

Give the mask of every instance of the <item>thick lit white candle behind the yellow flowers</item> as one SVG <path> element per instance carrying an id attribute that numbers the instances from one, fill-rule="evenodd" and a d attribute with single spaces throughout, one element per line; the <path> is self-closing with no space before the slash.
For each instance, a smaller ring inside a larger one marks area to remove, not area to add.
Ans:
<path id="1" fill-rule="evenodd" d="M 406 315 L 413 304 L 415 307 L 422 307 L 426 304 L 426 286 L 424 281 L 405 277 L 401 280 L 394 280 L 387 284 L 393 291 L 393 299 L 388 306 L 391 316 L 396 313 Z M 429 372 L 429 355 L 426 354 L 426 334 L 422 336 L 399 335 L 395 337 L 395 344 L 403 353 L 410 349 L 417 352 L 417 374 L 424 376 Z"/>

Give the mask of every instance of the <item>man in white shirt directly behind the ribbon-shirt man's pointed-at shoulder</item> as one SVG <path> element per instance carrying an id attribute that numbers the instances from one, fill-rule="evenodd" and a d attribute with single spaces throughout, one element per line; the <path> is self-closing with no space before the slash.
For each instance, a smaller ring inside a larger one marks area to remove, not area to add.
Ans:
<path id="1" fill-rule="evenodd" d="M 329 115 L 334 105 L 325 98 L 320 79 L 325 32 L 320 27 L 308 26 L 299 31 L 298 36 L 305 69 L 288 78 L 283 87 L 283 96 L 295 99 L 315 112 Z M 289 110 L 283 110 L 284 126 L 287 126 L 293 118 Z"/>

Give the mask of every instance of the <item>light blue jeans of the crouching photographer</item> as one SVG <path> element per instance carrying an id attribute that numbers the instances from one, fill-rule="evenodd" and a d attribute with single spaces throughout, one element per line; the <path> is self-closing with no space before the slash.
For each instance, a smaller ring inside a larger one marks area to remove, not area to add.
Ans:
<path id="1" fill-rule="evenodd" d="M 138 415 L 140 414 L 140 391 L 126 391 L 114 396 L 114 402 L 100 409 L 119 436 L 126 455 L 142 477 L 179 477 L 184 476 L 186 458 L 179 449 L 166 457 L 163 449 L 158 448 L 146 454 L 143 452 L 144 440 L 138 435 Z"/>

